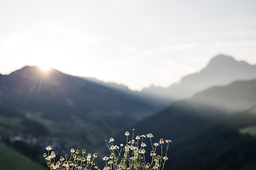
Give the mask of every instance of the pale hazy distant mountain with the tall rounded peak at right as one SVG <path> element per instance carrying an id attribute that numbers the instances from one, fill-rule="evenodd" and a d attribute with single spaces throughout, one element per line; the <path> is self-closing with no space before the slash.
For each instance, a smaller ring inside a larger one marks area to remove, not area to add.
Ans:
<path id="1" fill-rule="evenodd" d="M 256 79 L 256 65 L 236 61 L 230 56 L 218 55 L 211 59 L 206 68 L 199 73 L 183 77 L 179 83 L 174 83 L 168 88 L 151 86 L 144 88 L 141 93 L 165 98 L 167 102 L 171 102 L 192 97 L 195 93 L 212 86 L 251 79 Z"/>

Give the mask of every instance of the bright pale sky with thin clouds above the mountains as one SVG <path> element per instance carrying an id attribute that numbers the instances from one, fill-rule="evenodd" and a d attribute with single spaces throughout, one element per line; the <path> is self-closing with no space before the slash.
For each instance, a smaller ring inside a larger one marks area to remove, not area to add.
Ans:
<path id="1" fill-rule="evenodd" d="M 224 54 L 256 64 L 255 0 L 0 0 L 0 73 L 168 87 Z"/>

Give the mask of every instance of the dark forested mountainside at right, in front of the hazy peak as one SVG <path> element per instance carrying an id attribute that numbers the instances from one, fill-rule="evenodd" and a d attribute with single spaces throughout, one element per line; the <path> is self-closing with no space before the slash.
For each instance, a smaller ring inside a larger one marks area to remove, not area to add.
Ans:
<path id="1" fill-rule="evenodd" d="M 237 81 L 206 89 L 126 129 L 152 133 L 152 143 L 172 140 L 168 169 L 255 169 L 255 83 Z M 124 142 L 120 136 L 123 133 L 114 136 L 117 143 Z"/>

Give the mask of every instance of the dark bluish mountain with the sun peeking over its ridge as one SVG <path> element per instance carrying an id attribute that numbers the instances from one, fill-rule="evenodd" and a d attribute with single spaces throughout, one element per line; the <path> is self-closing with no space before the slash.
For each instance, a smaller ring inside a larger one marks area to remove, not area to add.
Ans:
<path id="1" fill-rule="evenodd" d="M 104 84 L 36 66 L 0 77 L 0 104 L 39 119 L 58 136 L 76 134 L 76 140 L 94 145 L 158 109 Z"/>

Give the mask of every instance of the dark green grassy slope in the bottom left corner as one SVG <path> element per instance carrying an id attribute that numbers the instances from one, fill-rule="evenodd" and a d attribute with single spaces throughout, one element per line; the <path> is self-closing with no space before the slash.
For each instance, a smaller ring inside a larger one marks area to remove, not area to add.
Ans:
<path id="1" fill-rule="evenodd" d="M 0 142 L 0 155 L 0 169 L 47 170 L 47 167 L 44 168 L 38 165 L 26 156 L 18 153 L 12 148 L 9 148 L 2 142 Z"/>

